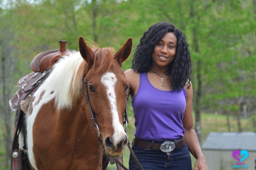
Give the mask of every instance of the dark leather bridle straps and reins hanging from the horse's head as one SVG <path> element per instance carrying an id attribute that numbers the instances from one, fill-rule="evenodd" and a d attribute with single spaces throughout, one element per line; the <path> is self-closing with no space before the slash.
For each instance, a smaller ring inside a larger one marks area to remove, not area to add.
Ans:
<path id="1" fill-rule="evenodd" d="M 85 93 L 83 91 L 83 86 L 85 85 Z M 98 126 L 98 122 L 97 122 L 97 119 L 96 117 L 94 116 L 94 113 L 92 111 L 92 108 L 91 108 L 91 104 L 90 104 L 90 101 L 89 101 L 89 96 L 88 96 L 88 85 L 87 85 L 87 81 L 86 81 L 86 78 L 84 78 L 83 82 L 82 82 L 82 87 L 81 87 L 81 90 L 82 90 L 82 93 L 83 95 L 85 96 L 86 98 L 86 101 L 87 101 L 87 104 L 88 104 L 88 107 L 89 107 L 89 112 L 90 112 L 90 116 L 91 116 L 91 122 L 92 122 L 92 127 L 96 127 L 97 128 L 97 132 L 98 132 L 98 139 L 99 141 L 101 142 L 101 145 L 102 147 L 104 148 L 103 146 L 103 140 L 102 140 L 102 136 L 101 136 L 101 131 L 99 129 L 99 126 Z M 124 116 L 123 116 L 123 123 L 125 124 L 125 133 L 127 132 L 127 125 L 128 125 L 128 115 L 127 115 L 127 103 L 128 103 L 128 93 L 126 92 L 126 104 L 125 104 L 125 111 L 124 111 Z M 128 139 L 128 144 L 127 144 L 130 152 L 131 152 L 131 155 L 133 157 L 133 159 L 135 160 L 136 164 L 138 165 L 138 167 L 140 168 L 140 170 L 143 170 L 143 167 L 140 165 L 137 157 L 135 156 L 133 150 L 131 149 L 131 146 L 130 146 L 130 141 Z M 115 158 L 113 156 L 113 159 L 125 170 L 129 170 L 128 168 L 126 168 L 117 158 Z"/>

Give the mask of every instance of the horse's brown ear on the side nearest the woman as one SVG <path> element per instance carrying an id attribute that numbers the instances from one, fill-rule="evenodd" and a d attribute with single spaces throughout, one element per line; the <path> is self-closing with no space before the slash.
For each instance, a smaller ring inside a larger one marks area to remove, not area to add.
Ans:
<path id="1" fill-rule="evenodd" d="M 119 50 L 115 54 L 115 58 L 118 60 L 119 65 L 122 67 L 122 63 L 129 57 L 132 49 L 132 39 L 129 38 L 123 47 L 119 48 Z"/>

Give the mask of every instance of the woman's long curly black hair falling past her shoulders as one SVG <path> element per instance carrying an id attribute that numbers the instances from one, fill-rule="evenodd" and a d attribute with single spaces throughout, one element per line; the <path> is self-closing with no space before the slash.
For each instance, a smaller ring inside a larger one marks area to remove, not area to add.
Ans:
<path id="1" fill-rule="evenodd" d="M 170 88 L 174 91 L 181 91 L 190 82 L 191 59 L 185 36 L 168 22 L 160 22 L 152 25 L 140 39 L 140 43 L 133 54 L 131 68 L 136 72 L 147 72 L 152 65 L 152 54 L 155 44 L 159 42 L 167 32 L 173 32 L 177 38 L 176 54 L 169 65 Z M 190 87 L 190 83 L 189 83 Z"/>

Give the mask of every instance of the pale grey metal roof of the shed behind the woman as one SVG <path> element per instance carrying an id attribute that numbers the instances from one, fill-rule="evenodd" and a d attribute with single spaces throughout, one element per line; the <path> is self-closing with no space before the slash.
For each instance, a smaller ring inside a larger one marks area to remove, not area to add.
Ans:
<path id="1" fill-rule="evenodd" d="M 251 150 L 256 151 L 256 133 L 254 132 L 211 132 L 203 150 Z"/>

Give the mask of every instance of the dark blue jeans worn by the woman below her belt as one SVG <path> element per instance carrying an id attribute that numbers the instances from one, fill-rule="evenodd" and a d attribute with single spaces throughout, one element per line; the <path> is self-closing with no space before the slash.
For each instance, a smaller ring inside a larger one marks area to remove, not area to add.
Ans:
<path id="1" fill-rule="evenodd" d="M 151 150 L 133 145 L 132 150 L 145 170 L 192 170 L 188 145 L 174 149 L 168 155 L 161 150 Z M 139 170 L 130 154 L 129 170 Z"/>

